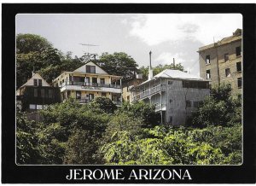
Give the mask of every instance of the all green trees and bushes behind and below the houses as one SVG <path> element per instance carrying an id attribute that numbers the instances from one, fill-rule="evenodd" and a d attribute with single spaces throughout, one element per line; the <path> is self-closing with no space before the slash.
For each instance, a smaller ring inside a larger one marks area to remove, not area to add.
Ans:
<path id="1" fill-rule="evenodd" d="M 84 58 L 63 55 L 38 35 L 17 35 L 17 87 L 31 78 L 33 67 L 49 83 L 62 71 L 81 67 Z M 129 78 L 137 63 L 125 53 L 107 53 L 95 62 L 108 73 Z M 154 68 L 183 71 L 181 64 Z M 141 67 L 147 78 L 147 67 Z M 241 99 L 230 87 L 213 87 L 185 126 L 160 125 L 160 113 L 144 102 L 117 108 L 108 98 L 81 105 L 73 99 L 42 110 L 44 120 L 17 113 L 17 163 L 110 165 L 241 164 Z M 184 125 L 184 124 L 181 124 Z"/>

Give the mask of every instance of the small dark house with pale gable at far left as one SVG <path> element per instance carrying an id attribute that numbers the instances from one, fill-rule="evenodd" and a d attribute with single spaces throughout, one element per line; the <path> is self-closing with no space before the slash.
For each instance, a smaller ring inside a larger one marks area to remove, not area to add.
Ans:
<path id="1" fill-rule="evenodd" d="M 60 90 L 50 86 L 38 73 L 32 73 L 32 78 L 16 90 L 16 106 L 22 111 L 44 109 L 56 102 L 61 102 Z"/>

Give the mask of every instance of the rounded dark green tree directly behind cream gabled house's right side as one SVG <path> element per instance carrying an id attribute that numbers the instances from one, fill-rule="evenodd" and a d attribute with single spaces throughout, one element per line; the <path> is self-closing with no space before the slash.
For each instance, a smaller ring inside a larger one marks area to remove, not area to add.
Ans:
<path id="1" fill-rule="evenodd" d="M 96 64 L 102 67 L 111 75 L 123 76 L 124 78 L 133 77 L 137 71 L 137 62 L 130 55 L 124 52 L 115 52 L 113 55 L 103 53 Z"/>

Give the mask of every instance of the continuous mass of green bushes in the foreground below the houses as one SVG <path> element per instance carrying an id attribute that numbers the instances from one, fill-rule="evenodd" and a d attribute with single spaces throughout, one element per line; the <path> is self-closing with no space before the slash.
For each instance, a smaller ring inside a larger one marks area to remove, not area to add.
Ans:
<path id="1" fill-rule="evenodd" d="M 226 85 L 214 88 L 212 96 L 191 118 L 201 123 L 190 126 L 160 125 L 160 116 L 154 113 L 154 107 L 137 102 L 116 108 L 108 98 L 96 98 L 84 105 L 73 99 L 55 104 L 41 112 L 44 122 L 28 121 L 19 113 L 17 162 L 239 165 L 241 100 L 231 98 L 229 92 Z M 214 100 L 214 104 L 209 100 Z M 225 108 L 231 103 L 232 109 Z M 216 106 L 219 104 L 224 113 L 214 110 L 215 117 L 205 116 L 210 112 L 209 107 L 219 107 Z"/>

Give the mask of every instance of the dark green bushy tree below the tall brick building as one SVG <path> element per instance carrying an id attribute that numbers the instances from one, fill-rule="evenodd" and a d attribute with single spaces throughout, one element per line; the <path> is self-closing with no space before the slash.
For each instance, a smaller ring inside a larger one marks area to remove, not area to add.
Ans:
<path id="1" fill-rule="evenodd" d="M 236 125 L 241 123 L 241 98 L 230 96 L 231 88 L 221 84 L 212 88 L 211 96 L 191 117 L 191 125 Z"/>

